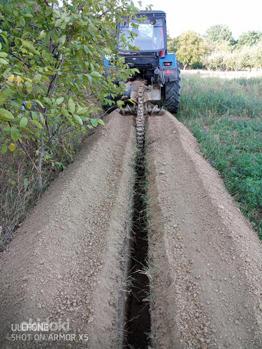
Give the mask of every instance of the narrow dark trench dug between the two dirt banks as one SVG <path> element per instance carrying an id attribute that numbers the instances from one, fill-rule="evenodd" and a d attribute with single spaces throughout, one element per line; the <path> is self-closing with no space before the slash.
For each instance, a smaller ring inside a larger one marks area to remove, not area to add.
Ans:
<path id="1" fill-rule="evenodd" d="M 138 150 L 133 190 L 132 244 L 130 251 L 129 297 L 126 299 L 124 348 L 150 346 L 150 280 L 145 273 L 148 259 L 147 175 L 145 148 Z"/>

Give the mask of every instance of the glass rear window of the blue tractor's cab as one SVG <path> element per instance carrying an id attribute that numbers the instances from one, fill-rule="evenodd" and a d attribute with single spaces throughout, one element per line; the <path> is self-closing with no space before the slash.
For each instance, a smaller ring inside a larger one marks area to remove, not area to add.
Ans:
<path id="1" fill-rule="evenodd" d="M 136 23 L 136 21 L 132 21 Z M 138 23 L 138 28 L 134 28 L 128 23 L 120 28 L 120 31 L 130 45 L 140 47 L 140 51 L 161 51 L 164 49 L 163 43 L 163 24 L 162 20 L 154 20 L 154 24 L 150 24 L 150 20 L 144 23 Z M 136 34 L 136 38 L 133 34 Z"/>

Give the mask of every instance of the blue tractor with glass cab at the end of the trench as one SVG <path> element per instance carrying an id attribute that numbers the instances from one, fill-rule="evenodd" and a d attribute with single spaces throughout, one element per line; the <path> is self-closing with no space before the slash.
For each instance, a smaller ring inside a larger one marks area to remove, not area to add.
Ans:
<path id="1" fill-rule="evenodd" d="M 137 20 L 138 17 L 146 17 L 144 22 Z M 134 26 L 132 23 L 136 23 Z M 161 110 L 157 105 L 152 107 L 151 102 L 164 101 L 166 109 L 171 113 L 178 111 L 180 103 L 180 64 L 175 57 L 175 53 L 168 54 L 166 36 L 166 13 L 152 10 L 150 12 L 140 11 L 131 22 L 117 24 L 117 33 L 124 34 L 126 40 L 131 45 L 139 47 L 139 51 L 121 50 L 119 45 L 119 55 L 131 68 L 137 68 L 139 73 L 135 73 L 126 82 L 126 91 L 122 99 L 131 99 L 138 103 L 138 90 L 141 84 L 144 85 L 145 112 L 157 112 Z M 131 35 L 131 33 L 136 33 Z M 105 66 L 110 69 L 110 58 L 105 59 Z M 122 108 L 122 113 L 136 113 L 136 104 L 132 106 L 126 103 Z M 106 109 L 106 107 L 105 107 Z"/>

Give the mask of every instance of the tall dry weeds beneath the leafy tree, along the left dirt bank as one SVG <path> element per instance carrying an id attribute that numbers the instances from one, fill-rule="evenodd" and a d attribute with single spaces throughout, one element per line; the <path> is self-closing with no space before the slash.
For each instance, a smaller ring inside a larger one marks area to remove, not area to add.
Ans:
<path id="1" fill-rule="evenodd" d="M 44 161 L 50 163 L 43 176 L 43 190 L 73 159 L 83 135 L 68 134 L 49 153 Z M 10 151 L 0 153 L 0 251 L 13 237 L 27 212 L 40 197 L 37 173 L 28 158 Z"/>

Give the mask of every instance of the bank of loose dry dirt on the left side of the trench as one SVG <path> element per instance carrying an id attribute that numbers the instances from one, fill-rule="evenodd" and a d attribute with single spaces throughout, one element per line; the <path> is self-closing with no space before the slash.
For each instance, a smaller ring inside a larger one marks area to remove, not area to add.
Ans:
<path id="1" fill-rule="evenodd" d="M 1 255 L 0 348 L 116 348 L 133 123 L 111 113 Z M 43 341 L 34 332 L 30 341 L 6 339 L 27 333 L 12 324 L 30 319 L 54 331 L 41 332 Z"/>

